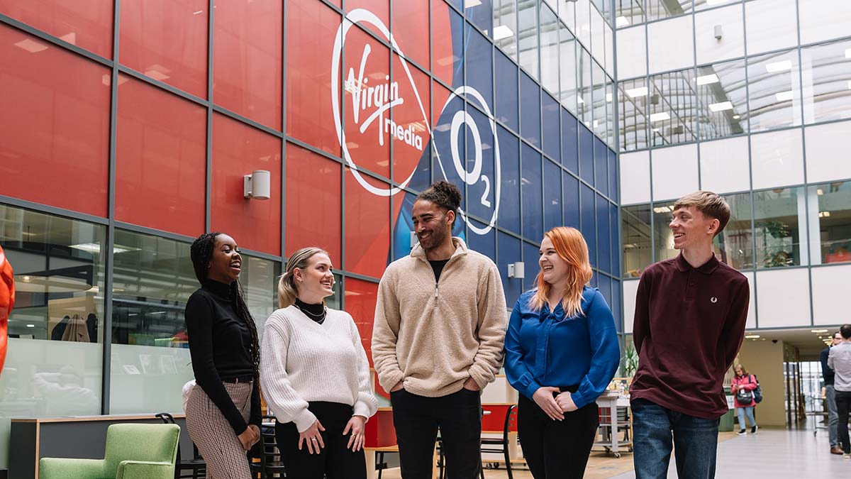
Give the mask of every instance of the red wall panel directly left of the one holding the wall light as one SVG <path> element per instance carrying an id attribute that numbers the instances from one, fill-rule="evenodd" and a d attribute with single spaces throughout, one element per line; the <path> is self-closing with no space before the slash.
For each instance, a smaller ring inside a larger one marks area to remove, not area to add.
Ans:
<path id="1" fill-rule="evenodd" d="M 116 219 L 188 236 L 201 234 L 206 144 L 207 108 L 121 76 Z"/>

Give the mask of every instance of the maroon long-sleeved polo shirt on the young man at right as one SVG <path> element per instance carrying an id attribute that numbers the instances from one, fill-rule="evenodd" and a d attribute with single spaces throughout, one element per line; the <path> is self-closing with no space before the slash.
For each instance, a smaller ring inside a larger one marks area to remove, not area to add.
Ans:
<path id="1" fill-rule="evenodd" d="M 747 278 L 714 255 L 700 268 L 681 253 L 645 269 L 632 326 L 631 400 L 699 418 L 727 413 L 722 384 L 745 336 L 750 295 Z"/>

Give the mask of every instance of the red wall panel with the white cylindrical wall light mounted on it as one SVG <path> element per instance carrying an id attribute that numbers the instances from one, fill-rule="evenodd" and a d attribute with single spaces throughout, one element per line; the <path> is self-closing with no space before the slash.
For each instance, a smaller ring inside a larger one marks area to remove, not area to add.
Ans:
<path id="1" fill-rule="evenodd" d="M 246 199 L 243 176 L 267 170 L 269 199 Z M 281 140 L 262 130 L 213 115 L 212 229 L 240 246 L 281 254 Z"/>

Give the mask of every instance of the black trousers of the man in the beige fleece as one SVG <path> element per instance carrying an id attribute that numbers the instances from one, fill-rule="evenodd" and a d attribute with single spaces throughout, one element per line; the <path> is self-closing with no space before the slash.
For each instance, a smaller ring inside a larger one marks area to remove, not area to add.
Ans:
<path id="1" fill-rule="evenodd" d="M 461 389 L 443 397 L 406 390 L 390 394 L 403 479 L 431 479 L 437 430 L 446 457 L 446 479 L 477 479 L 482 464 L 482 401 Z"/>

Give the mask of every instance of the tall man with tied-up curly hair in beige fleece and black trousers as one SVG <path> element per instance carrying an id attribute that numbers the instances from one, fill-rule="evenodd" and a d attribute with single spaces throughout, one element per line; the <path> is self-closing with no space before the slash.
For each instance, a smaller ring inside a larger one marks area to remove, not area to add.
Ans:
<path id="1" fill-rule="evenodd" d="M 502 364 L 507 326 L 500 274 L 452 237 L 461 193 L 436 182 L 414 202 L 420 244 L 387 268 L 378 290 L 372 354 L 390 392 L 403 479 L 431 478 L 438 428 L 447 476 L 479 475 L 479 391 Z"/>

